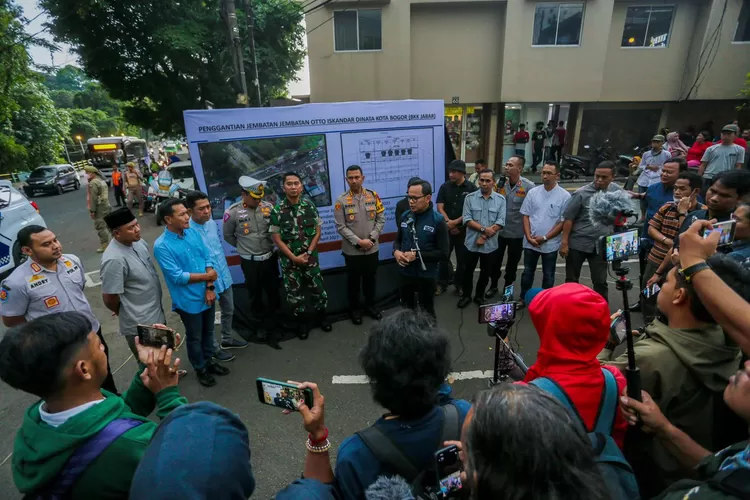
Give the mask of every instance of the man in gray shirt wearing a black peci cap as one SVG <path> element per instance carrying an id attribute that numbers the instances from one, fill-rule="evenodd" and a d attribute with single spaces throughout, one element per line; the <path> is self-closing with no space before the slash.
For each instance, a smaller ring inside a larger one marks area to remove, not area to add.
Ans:
<path id="1" fill-rule="evenodd" d="M 104 217 L 104 222 L 112 231 L 112 241 L 102 255 L 99 271 L 102 300 L 119 318 L 120 335 L 125 336 L 137 359 L 138 324 L 166 323 L 161 281 L 133 212 L 128 208 L 115 210 Z"/>

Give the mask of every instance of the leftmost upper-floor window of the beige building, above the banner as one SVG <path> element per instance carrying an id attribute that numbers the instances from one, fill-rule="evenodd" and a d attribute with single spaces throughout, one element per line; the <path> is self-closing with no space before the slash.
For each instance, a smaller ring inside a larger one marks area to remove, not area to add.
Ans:
<path id="1" fill-rule="evenodd" d="M 381 50 L 380 9 L 337 10 L 333 13 L 336 51 Z"/>

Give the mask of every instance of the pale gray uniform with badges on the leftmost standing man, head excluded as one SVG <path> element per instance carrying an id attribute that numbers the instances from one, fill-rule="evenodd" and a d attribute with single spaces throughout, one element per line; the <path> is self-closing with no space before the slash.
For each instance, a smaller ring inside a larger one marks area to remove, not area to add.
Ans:
<path id="1" fill-rule="evenodd" d="M 86 276 L 78 257 L 63 254 L 57 259 L 57 270 L 52 271 L 31 259 L 16 267 L 0 283 L 0 314 L 23 316 L 26 321 L 58 312 L 76 311 L 88 318 L 107 354 L 107 378 L 102 388 L 117 394 L 109 368 L 109 348 L 102 336 L 102 328 L 94 316 L 83 289 Z"/>

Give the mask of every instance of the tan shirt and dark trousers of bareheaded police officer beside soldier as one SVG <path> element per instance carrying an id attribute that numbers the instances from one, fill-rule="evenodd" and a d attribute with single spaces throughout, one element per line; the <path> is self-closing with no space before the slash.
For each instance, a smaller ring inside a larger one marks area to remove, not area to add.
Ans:
<path id="1" fill-rule="evenodd" d="M 362 323 L 359 312 L 359 288 L 365 295 L 365 312 L 373 319 L 382 315 L 373 309 L 375 304 L 375 272 L 378 268 L 378 238 L 385 226 L 385 208 L 375 191 L 362 187 L 360 194 L 351 190 L 336 200 L 333 210 L 336 230 L 341 235 L 341 251 L 346 263 L 349 311 L 355 325 Z M 360 248 L 359 240 L 370 240 L 372 247 Z"/>

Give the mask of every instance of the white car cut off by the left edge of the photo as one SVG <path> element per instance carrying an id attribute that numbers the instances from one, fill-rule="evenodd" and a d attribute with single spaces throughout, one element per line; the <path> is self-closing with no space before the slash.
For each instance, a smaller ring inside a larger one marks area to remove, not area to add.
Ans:
<path id="1" fill-rule="evenodd" d="M 26 260 L 16 235 L 30 224 L 47 227 L 36 203 L 29 201 L 10 181 L 0 181 L 0 275 Z"/>

